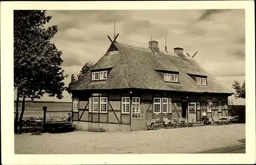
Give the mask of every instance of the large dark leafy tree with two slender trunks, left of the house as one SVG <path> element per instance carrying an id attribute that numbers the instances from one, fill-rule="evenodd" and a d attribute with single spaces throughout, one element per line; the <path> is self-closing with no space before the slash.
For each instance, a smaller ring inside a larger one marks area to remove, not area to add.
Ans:
<path id="1" fill-rule="evenodd" d="M 14 89 L 17 90 L 15 121 L 18 118 L 18 100 L 23 98 L 22 112 L 19 116 L 19 130 L 22 131 L 22 119 L 25 99 L 40 99 L 45 93 L 61 99 L 66 90 L 63 82 L 67 75 L 60 65 L 62 52 L 51 43 L 57 33 L 56 25 L 44 28 L 51 16 L 46 10 L 14 10 Z M 17 123 L 15 125 L 17 132 Z"/>

